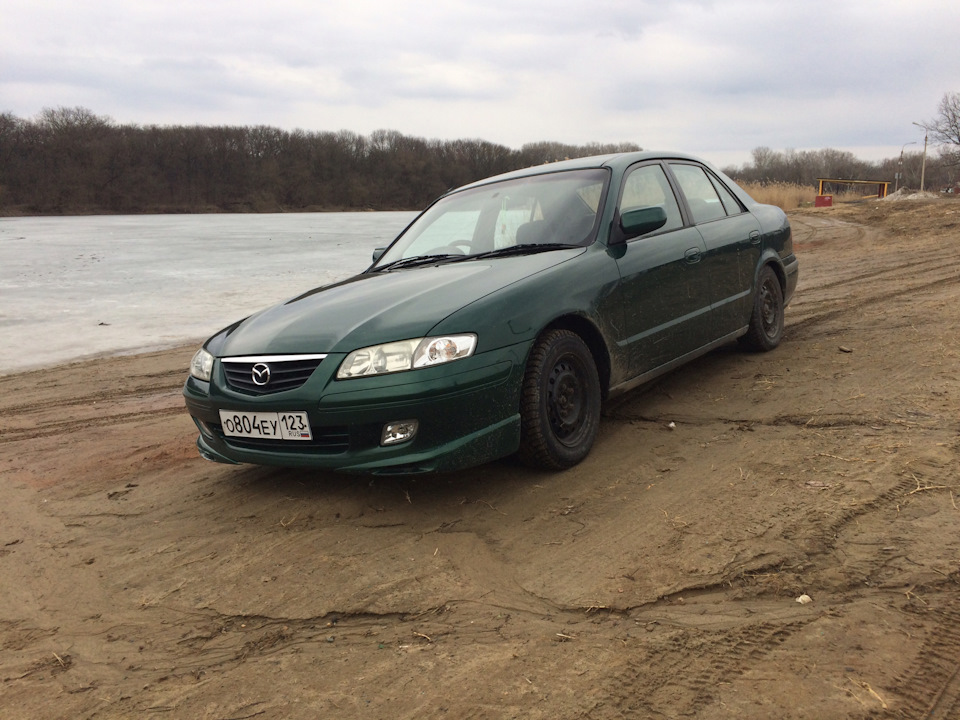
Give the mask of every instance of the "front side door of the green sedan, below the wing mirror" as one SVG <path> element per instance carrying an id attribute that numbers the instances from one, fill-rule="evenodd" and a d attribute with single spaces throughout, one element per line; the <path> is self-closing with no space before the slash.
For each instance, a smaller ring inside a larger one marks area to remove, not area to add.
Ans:
<path id="1" fill-rule="evenodd" d="M 703 344 L 711 292 L 701 260 L 706 246 L 684 226 L 675 191 L 659 162 L 629 169 L 619 198 L 624 212 L 659 206 L 667 216 L 659 230 L 618 246 L 620 282 L 615 293 L 621 317 L 618 345 L 636 377 Z"/>

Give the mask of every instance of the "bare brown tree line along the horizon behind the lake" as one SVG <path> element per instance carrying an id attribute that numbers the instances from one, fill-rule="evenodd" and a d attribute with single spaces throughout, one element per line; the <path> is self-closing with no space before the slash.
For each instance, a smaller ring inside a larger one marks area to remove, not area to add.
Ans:
<path id="1" fill-rule="evenodd" d="M 941 125 L 948 138 L 950 127 Z M 122 125 L 60 107 L 32 119 L 0 114 L 0 214 L 410 210 L 498 173 L 639 149 L 537 142 L 515 150 L 393 130 Z M 956 159 L 928 153 L 926 187 L 955 183 Z M 919 187 L 921 163 L 919 150 L 904 153 L 899 184 Z M 813 186 L 820 177 L 892 181 L 901 167 L 899 157 L 869 163 L 840 150 L 760 147 L 751 163 L 724 169 L 742 181 Z"/>

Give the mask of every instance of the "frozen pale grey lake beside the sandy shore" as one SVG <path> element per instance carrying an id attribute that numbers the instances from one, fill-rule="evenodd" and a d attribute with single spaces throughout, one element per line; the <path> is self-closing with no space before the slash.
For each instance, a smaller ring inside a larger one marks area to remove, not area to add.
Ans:
<path id="1" fill-rule="evenodd" d="M 415 216 L 0 218 L 0 375 L 205 340 L 363 270 Z"/>

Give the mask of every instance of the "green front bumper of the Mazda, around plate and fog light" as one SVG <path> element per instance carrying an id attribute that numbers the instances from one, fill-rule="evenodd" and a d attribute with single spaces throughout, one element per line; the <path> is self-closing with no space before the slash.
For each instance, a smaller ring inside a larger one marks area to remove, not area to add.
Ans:
<path id="1" fill-rule="evenodd" d="M 481 353 L 433 368 L 336 380 L 342 355 L 331 354 L 295 390 L 251 396 L 227 385 L 214 364 L 211 382 L 190 377 L 183 389 L 210 460 L 345 472 L 399 474 L 456 470 L 517 450 L 520 387 L 528 344 Z M 312 441 L 227 437 L 220 410 L 305 411 Z M 381 446 L 383 426 L 416 419 L 416 436 Z"/>

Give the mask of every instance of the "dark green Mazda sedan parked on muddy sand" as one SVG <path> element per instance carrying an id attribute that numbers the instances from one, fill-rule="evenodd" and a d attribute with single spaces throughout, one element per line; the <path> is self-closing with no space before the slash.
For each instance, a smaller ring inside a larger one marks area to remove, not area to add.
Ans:
<path id="1" fill-rule="evenodd" d="M 210 460 L 562 470 L 607 399 L 734 340 L 777 347 L 797 266 L 784 213 L 695 157 L 528 168 L 447 193 L 359 275 L 221 330 L 183 394 Z"/>

